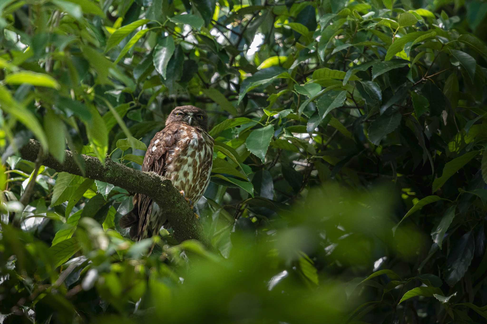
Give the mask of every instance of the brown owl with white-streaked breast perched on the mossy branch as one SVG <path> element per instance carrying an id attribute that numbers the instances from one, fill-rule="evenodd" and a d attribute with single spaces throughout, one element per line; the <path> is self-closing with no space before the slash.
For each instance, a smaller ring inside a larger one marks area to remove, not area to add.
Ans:
<path id="1" fill-rule="evenodd" d="M 152 138 L 142 171 L 165 176 L 196 204 L 208 187 L 212 163 L 213 138 L 207 133 L 206 112 L 187 105 L 174 108 L 166 127 Z M 120 219 L 120 226 L 131 227 L 131 238 L 139 241 L 157 235 L 165 221 L 164 211 L 152 199 L 135 194 L 133 209 Z"/>

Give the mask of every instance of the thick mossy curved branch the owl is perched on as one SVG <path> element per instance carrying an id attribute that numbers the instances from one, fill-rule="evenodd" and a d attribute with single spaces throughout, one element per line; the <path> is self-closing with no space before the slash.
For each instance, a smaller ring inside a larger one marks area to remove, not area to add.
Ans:
<path id="1" fill-rule="evenodd" d="M 29 161 L 36 161 L 40 144 L 31 139 L 20 149 L 20 156 Z M 110 183 L 133 193 L 141 193 L 152 198 L 161 210 L 167 212 L 168 220 L 174 229 L 174 238 L 178 241 L 186 239 L 203 239 L 201 225 L 194 216 L 193 211 L 184 200 L 171 181 L 154 172 L 143 172 L 128 168 L 111 159 L 105 160 L 105 166 L 98 158 L 81 155 L 85 164 L 85 174 L 81 173 L 73 158 L 71 151 L 66 151 L 63 163 L 57 161 L 52 155 L 45 155 L 42 165 L 56 170 L 82 175 L 90 179 Z"/>

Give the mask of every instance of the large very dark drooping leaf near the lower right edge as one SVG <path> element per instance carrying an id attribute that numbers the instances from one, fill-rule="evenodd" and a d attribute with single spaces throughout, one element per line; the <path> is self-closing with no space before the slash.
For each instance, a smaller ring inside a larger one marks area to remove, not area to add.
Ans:
<path id="1" fill-rule="evenodd" d="M 473 232 L 468 231 L 455 244 L 452 245 L 445 265 L 445 281 L 450 287 L 453 287 L 467 273 L 468 267 L 473 259 L 475 243 Z"/>

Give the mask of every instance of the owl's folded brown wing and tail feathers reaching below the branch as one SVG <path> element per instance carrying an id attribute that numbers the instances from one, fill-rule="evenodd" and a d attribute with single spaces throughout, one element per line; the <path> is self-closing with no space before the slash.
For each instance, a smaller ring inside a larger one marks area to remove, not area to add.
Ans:
<path id="1" fill-rule="evenodd" d="M 142 171 L 153 171 L 164 175 L 166 159 L 169 151 L 174 149 L 179 139 L 179 125 L 177 123 L 167 125 L 162 131 L 156 133 L 150 141 L 142 163 Z M 150 237 L 148 225 L 150 223 L 150 212 L 152 199 L 142 194 L 135 194 L 133 197 L 133 209 L 130 213 L 120 219 L 120 226 L 131 227 L 130 235 L 137 241 Z"/>

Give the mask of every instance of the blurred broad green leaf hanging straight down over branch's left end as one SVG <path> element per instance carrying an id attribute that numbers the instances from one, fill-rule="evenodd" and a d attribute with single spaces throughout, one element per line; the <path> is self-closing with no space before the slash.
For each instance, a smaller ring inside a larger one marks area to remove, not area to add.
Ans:
<path id="1" fill-rule="evenodd" d="M 66 149 L 66 126 L 52 109 L 47 109 L 46 116 L 44 116 L 44 131 L 47 136 L 49 153 L 57 161 L 63 163 L 64 157 L 66 156 L 66 152 L 64 151 Z"/>

